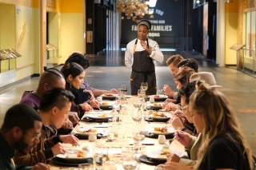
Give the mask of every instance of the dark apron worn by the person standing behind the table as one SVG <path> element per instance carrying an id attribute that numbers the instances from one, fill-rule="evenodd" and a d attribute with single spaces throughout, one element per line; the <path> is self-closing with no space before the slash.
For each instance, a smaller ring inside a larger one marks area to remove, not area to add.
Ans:
<path id="1" fill-rule="evenodd" d="M 135 42 L 134 50 L 137 42 L 138 39 Z M 148 39 L 146 39 L 146 43 L 149 47 Z M 131 95 L 138 95 L 138 89 L 140 89 L 142 82 L 147 82 L 148 84 L 146 95 L 157 93 L 154 62 L 146 50 L 134 52 L 134 62 L 130 75 Z"/>

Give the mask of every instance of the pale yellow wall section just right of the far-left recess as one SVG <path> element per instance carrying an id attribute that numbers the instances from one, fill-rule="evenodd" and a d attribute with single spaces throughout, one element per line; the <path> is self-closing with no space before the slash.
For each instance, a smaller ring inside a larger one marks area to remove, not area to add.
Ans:
<path id="1" fill-rule="evenodd" d="M 17 58 L 16 64 L 16 77 L 19 80 L 38 73 L 34 64 L 35 58 L 39 57 L 39 18 L 38 10 L 19 5 L 16 8 L 19 10 L 16 13 L 16 50 L 22 54 L 22 57 Z"/>

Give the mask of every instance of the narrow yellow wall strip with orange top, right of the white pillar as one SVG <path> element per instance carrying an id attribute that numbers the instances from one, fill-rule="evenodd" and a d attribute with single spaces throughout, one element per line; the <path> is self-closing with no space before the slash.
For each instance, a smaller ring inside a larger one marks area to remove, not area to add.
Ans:
<path id="1" fill-rule="evenodd" d="M 225 64 L 236 65 L 237 53 L 230 46 L 238 43 L 238 2 L 226 3 Z M 224 41 L 224 40 L 223 40 Z"/>

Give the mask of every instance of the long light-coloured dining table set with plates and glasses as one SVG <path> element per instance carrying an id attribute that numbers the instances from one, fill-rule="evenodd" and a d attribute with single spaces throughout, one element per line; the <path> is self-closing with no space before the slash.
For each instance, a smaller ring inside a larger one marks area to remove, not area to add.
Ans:
<path id="1" fill-rule="evenodd" d="M 161 119 L 160 121 L 145 121 L 147 120 L 146 118 L 150 117 L 150 114 L 154 113 L 154 111 L 146 108 L 148 108 L 150 105 L 162 105 L 162 102 L 152 104 L 149 101 L 145 101 L 144 105 L 141 107 L 142 117 L 144 117 L 144 119 L 139 122 L 135 122 L 132 118 L 134 112 L 138 112 L 138 109 L 134 108 L 134 106 L 140 102 L 137 96 L 127 95 L 122 101 L 103 100 L 102 102 L 104 105 L 113 106 L 113 109 L 94 109 L 86 113 L 81 121 L 79 121 L 79 125 L 74 127 L 73 131 L 71 132 L 74 134 L 74 136 L 78 136 L 80 139 L 79 145 L 72 146 L 71 144 L 65 144 L 67 150 L 86 150 L 86 152 L 88 152 L 88 155 L 86 156 L 94 157 L 94 164 L 91 165 L 93 168 L 90 169 L 124 169 L 122 167 L 122 152 L 124 152 L 126 149 L 134 152 L 134 154 L 136 152 L 140 156 L 148 156 L 148 154 L 154 154 L 154 152 L 166 151 L 174 152 L 179 156 L 186 156 L 185 148 L 177 140 L 172 140 L 171 138 L 173 136 L 170 136 L 169 133 L 152 133 L 154 132 L 155 128 L 168 127 L 173 135 L 174 128 L 170 127 L 170 124 L 167 126 L 165 122 L 161 122 Z M 158 113 L 170 115 L 168 117 L 171 118 L 171 112 L 166 112 L 164 109 L 160 109 Z M 110 119 L 107 117 L 107 115 L 111 115 Z M 91 120 L 92 117 L 106 117 L 108 121 L 102 122 L 98 121 L 98 119 L 96 119 L 96 121 Z M 141 141 L 141 145 L 134 142 L 134 132 L 138 131 L 138 128 L 142 129 L 146 136 L 145 139 Z M 88 140 L 88 136 L 91 134 L 90 131 L 98 134 L 97 140 L 93 140 L 93 138 Z M 161 134 L 166 136 L 166 141 L 162 143 L 160 142 L 161 144 L 159 144 L 157 136 Z M 138 147 L 139 151 L 136 150 L 136 147 Z M 97 156 L 102 158 L 100 164 L 95 164 L 97 162 Z M 150 162 L 143 161 L 143 159 L 145 160 L 146 158 L 143 157 L 142 159 L 140 156 L 136 158 L 138 162 L 136 169 L 156 169 L 156 164 L 150 164 Z M 62 156 L 60 157 L 63 158 Z M 50 165 L 51 169 L 53 170 L 82 169 L 77 167 L 78 164 L 56 164 L 56 162 L 51 161 Z"/>

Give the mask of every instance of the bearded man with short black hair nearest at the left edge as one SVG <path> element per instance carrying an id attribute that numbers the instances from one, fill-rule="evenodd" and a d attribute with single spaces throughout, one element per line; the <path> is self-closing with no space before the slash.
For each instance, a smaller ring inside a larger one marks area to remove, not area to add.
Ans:
<path id="1" fill-rule="evenodd" d="M 0 130 L 0 167 L 1 169 L 50 170 L 47 164 L 38 163 L 34 167 L 19 167 L 14 164 L 14 149 L 24 154 L 30 152 L 39 142 L 42 119 L 27 105 L 14 105 L 6 112 Z"/>

